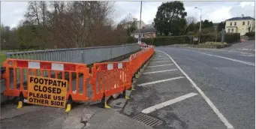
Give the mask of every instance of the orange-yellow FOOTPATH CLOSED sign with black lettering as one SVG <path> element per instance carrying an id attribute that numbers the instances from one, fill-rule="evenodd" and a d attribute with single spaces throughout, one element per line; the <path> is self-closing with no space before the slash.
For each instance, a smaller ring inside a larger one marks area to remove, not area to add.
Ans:
<path id="1" fill-rule="evenodd" d="M 29 76 L 28 103 L 65 108 L 67 88 L 67 80 Z"/>

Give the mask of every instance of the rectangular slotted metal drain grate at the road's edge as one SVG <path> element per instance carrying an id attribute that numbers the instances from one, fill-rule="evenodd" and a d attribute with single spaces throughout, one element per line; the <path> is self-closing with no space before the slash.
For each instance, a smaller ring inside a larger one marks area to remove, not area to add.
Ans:
<path id="1" fill-rule="evenodd" d="M 158 126 L 163 124 L 164 121 L 161 121 L 158 118 L 153 118 L 149 115 L 145 115 L 143 113 L 140 113 L 138 115 L 135 115 L 133 117 L 135 120 L 142 122 L 143 124 L 149 125 L 151 127 Z"/>

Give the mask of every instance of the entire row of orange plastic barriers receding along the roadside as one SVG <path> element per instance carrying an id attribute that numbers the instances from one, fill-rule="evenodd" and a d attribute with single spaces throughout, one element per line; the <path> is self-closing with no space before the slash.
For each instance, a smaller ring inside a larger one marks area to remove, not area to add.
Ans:
<path id="1" fill-rule="evenodd" d="M 29 77 L 68 80 L 68 112 L 72 101 L 102 101 L 131 89 L 132 78 L 154 52 L 153 47 L 147 47 L 132 54 L 126 62 L 95 63 L 92 73 L 85 64 L 8 58 L 3 64 L 6 68 L 2 75 L 6 80 L 4 95 L 20 98 L 20 108 L 28 98 Z M 89 95 L 88 89 L 91 89 L 92 95 Z"/>

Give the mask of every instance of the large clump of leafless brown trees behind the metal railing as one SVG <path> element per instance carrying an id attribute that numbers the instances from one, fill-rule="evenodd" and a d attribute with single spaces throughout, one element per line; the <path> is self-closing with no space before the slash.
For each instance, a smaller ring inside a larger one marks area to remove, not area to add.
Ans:
<path id="1" fill-rule="evenodd" d="M 105 46 L 125 42 L 124 31 L 113 27 L 113 3 L 29 1 L 26 19 L 17 28 L 17 34 L 20 34 L 17 39 L 29 37 L 29 42 L 42 48 Z M 125 20 L 131 21 L 131 14 Z M 24 34 L 24 31 L 29 33 Z"/>

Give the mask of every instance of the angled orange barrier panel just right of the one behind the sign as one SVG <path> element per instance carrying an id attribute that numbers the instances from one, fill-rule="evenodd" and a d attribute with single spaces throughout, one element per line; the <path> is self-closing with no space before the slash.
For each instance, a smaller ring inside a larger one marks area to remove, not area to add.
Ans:
<path id="1" fill-rule="evenodd" d="M 125 91 L 131 88 L 129 62 L 95 63 L 92 68 L 92 101 Z"/>

